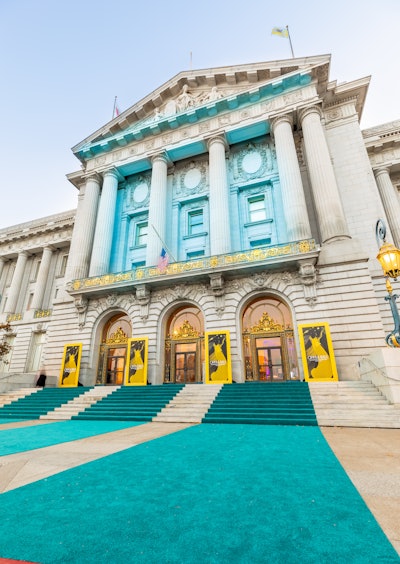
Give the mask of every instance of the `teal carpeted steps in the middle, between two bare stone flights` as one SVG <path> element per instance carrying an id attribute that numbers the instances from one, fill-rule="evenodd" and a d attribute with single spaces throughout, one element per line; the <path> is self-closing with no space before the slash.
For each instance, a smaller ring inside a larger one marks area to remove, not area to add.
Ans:
<path id="1" fill-rule="evenodd" d="M 72 419 L 151 421 L 182 388 L 181 384 L 123 386 Z"/>

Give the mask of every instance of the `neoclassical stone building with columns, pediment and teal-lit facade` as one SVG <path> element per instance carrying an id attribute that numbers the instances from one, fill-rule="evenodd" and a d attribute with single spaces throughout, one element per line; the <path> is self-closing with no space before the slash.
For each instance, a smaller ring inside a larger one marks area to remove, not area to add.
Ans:
<path id="1" fill-rule="evenodd" d="M 3 370 L 56 382 L 82 343 L 80 381 L 121 384 L 145 336 L 151 383 L 202 382 L 204 333 L 229 331 L 235 381 L 298 379 L 297 326 L 328 322 L 357 379 L 392 328 L 375 225 L 400 246 L 400 122 L 361 131 L 369 78 L 329 66 L 182 72 L 77 144 L 76 215 L 0 231 Z"/>

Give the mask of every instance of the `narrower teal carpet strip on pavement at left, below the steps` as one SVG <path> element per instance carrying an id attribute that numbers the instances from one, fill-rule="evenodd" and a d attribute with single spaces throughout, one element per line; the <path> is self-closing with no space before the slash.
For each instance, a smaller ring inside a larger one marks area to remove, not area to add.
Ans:
<path id="1" fill-rule="evenodd" d="M 0 430 L 0 456 L 136 427 L 132 421 L 60 421 Z M 1 554 L 0 554 L 1 556 Z"/>

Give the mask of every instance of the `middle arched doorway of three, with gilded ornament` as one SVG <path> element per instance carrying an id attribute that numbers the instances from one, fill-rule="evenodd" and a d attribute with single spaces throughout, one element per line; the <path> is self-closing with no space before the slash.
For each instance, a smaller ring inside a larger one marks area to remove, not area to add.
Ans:
<path id="1" fill-rule="evenodd" d="M 164 382 L 202 382 L 204 323 L 199 308 L 176 310 L 168 319 L 166 335 Z"/>

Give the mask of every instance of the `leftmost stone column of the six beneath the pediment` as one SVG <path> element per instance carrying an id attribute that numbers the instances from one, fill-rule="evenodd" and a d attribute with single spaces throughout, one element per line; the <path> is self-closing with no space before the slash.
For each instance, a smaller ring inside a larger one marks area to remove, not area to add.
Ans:
<path id="1" fill-rule="evenodd" d="M 94 230 L 96 226 L 97 207 L 100 194 L 100 178 L 90 176 L 86 180 L 83 198 L 80 199 L 72 233 L 71 247 L 65 280 L 86 278 L 89 272 L 90 256 Z"/>

